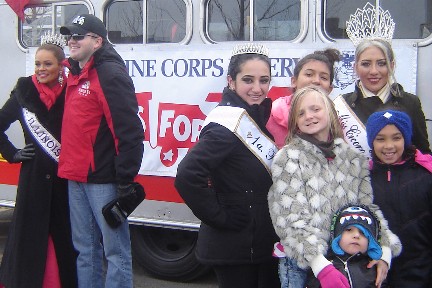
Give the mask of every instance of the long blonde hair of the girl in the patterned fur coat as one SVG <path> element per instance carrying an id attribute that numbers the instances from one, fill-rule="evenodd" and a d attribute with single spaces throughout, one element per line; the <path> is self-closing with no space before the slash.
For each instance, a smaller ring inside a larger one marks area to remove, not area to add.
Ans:
<path id="1" fill-rule="evenodd" d="M 297 90 L 291 100 L 291 110 L 288 116 L 289 130 L 288 135 L 285 139 L 285 144 L 291 142 L 294 138 L 294 135 L 299 133 L 300 130 L 298 128 L 298 115 L 300 113 L 300 104 L 303 101 L 304 97 L 312 92 L 317 92 L 318 97 L 321 98 L 324 102 L 324 108 L 329 115 L 328 128 L 330 136 L 333 138 L 343 139 L 342 126 L 339 122 L 339 117 L 337 115 L 333 101 L 328 97 L 328 93 L 318 86 L 306 86 Z"/>

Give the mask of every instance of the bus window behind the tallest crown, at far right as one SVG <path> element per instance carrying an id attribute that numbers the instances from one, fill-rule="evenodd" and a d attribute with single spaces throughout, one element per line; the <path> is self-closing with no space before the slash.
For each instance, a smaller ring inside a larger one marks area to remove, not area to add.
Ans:
<path id="1" fill-rule="evenodd" d="M 346 21 L 357 8 L 363 9 L 371 0 L 327 0 L 323 6 L 325 34 L 333 39 L 347 39 Z M 393 39 L 424 39 L 432 33 L 432 0 L 380 1 L 396 23 Z M 409 15 L 409 16 L 408 16 Z"/>

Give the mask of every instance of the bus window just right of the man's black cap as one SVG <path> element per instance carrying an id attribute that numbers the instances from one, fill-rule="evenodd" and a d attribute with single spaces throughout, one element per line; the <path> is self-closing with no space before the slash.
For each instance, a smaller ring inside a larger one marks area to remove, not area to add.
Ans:
<path id="1" fill-rule="evenodd" d="M 146 15 L 145 43 L 181 42 L 186 36 L 185 1 L 144 1 L 113 1 L 108 5 L 107 29 L 110 41 L 143 43 L 143 15 Z"/>

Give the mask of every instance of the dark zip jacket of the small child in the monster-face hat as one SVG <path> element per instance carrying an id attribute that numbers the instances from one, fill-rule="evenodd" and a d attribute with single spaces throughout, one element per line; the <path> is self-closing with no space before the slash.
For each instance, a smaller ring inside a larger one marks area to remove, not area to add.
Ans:
<path id="1" fill-rule="evenodd" d="M 365 254 L 336 256 L 331 253 L 326 256 L 335 268 L 340 271 L 350 283 L 351 288 L 375 288 L 377 269 L 367 268 L 371 259 Z M 307 288 L 319 288 L 321 284 L 309 270 Z M 381 284 L 381 288 L 388 287 L 386 281 Z"/>

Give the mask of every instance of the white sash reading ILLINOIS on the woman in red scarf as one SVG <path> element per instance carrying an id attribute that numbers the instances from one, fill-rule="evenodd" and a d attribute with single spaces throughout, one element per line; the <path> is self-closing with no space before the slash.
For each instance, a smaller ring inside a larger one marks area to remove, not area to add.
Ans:
<path id="1" fill-rule="evenodd" d="M 26 108 L 22 109 L 24 122 L 27 125 L 33 138 L 39 144 L 40 147 L 54 160 L 58 163 L 60 156 L 60 142 L 55 139 L 53 135 L 39 122 L 36 115 Z"/>

